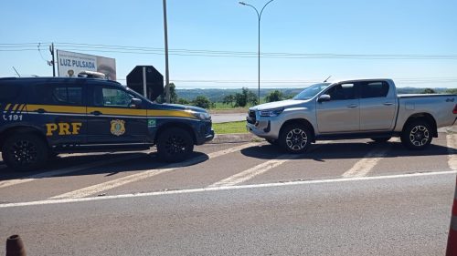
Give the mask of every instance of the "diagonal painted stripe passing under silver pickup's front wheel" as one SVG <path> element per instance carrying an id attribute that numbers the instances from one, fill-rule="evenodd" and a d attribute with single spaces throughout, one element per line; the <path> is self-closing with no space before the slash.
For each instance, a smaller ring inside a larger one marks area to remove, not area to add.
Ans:
<path id="1" fill-rule="evenodd" d="M 332 142 L 333 142 L 332 140 L 326 140 L 326 141 L 322 141 L 320 144 L 315 144 L 313 146 L 313 148 L 308 150 L 307 153 L 313 152 L 315 149 L 320 148 L 322 145 L 332 143 Z M 208 188 L 234 186 L 236 184 L 248 181 L 262 173 L 265 173 L 265 172 L 269 171 L 270 169 L 276 168 L 289 160 L 299 159 L 300 157 L 302 157 L 302 155 L 284 154 L 284 155 L 278 157 L 277 159 L 271 159 L 271 160 L 261 163 L 257 166 L 254 166 L 250 169 L 243 170 L 226 179 L 219 180 L 218 182 L 209 185 Z"/>

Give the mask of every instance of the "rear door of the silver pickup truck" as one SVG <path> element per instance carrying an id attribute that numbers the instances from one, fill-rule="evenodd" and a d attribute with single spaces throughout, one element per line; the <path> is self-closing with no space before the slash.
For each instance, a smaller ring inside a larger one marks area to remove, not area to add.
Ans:
<path id="1" fill-rule="evenodd" d="M 361 82 L 360 129 L 362 131 L 392 130 L 397 112 L 395 87 L 385 81 Z"/>

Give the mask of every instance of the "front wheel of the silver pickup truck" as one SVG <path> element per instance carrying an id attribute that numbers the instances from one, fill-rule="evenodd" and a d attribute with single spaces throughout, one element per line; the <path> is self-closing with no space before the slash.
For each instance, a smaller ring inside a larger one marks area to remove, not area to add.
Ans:
<path id="1" fill-rule="evenodd" d="M 278 140 L 279 145 L 287 152 L 300 154 L 311 144 L 312 133 L 309 128 L 301 124 L 292 124 L 282 128 Z"/>

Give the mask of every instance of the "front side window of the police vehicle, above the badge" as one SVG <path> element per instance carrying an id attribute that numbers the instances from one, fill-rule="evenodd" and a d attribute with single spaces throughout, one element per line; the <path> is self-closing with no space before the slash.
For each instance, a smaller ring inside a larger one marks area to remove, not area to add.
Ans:
<path id="1" fill-rule="evenodd" d="M 128 108 L 133 96 L 128 92 L 110 87 L 94 87 L 93 103 L 95 106 Z"/>

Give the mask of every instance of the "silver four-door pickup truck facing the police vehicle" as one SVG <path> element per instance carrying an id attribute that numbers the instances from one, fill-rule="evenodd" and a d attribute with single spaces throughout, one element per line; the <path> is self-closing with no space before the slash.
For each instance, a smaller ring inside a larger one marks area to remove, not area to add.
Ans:
<path id="1" fill-rule="evenodd" d="M 320 139 L 400 137 L 422 149 L 457 118 L 457 95 L 397 95 L 391 79 L 315 84 L 290 100 L 249 109 L 248 130 L 291 153 Z"/>

